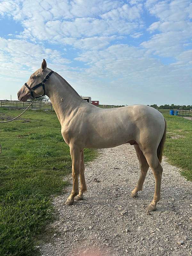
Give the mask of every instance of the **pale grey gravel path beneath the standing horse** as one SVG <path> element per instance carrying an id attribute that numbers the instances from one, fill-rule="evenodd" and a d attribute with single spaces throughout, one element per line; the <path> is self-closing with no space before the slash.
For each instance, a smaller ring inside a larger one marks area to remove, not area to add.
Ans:
<path id="1" fill-rule="evenodd" d="M 37 246 L 41 255 L 192 255 L 192 183 L 163 161 L 161 201 L 156 212 L 148 213 L 145 207 L 154 192 L 150 169 L 143 192 L 129 197 L 140 173 L 134 147 L 99 152 L 85 167 L 86 200 L 66 206 L 70 187 L 54 198 L 56 221 Z"/>

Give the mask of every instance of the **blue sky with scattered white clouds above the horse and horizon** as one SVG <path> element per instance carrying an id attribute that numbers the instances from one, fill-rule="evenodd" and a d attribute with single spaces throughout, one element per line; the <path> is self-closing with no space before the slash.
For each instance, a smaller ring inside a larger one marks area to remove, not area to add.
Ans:
<path id="1" fill-rule="evenodd" d="M 0 0 L 0 100 L 43 59 L 100 104 L 192 105 L 192 0 Z"/>

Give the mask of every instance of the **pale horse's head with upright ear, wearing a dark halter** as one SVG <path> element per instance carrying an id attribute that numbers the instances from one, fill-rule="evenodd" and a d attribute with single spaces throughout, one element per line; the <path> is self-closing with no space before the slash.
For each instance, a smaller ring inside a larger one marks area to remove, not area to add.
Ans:
<path id="1" fill-rule="evenodd" d="M 26 101 L 31 97 L 30 88 L 34 87 L 35 85 L 41 83 L 44 80 L 44 77 L 50 71 L 47 69 L 47 63 L 43 60 L 41 64 L 41 68 L 37 69 L 28 79 L 27 85 L 23 85 L 19 92 L 17 93 L 18 100 Z M 28 88 L 28 87 L 29 88 Z M 34 89 L 33 91 L 34 98 L 44 94 L 43 86 L 39 86 L 38 88 Z"/>

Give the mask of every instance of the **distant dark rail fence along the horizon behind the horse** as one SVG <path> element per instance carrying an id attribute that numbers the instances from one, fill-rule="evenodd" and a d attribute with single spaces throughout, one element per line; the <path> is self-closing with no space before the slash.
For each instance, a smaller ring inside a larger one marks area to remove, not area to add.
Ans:
<path id="1" fill-rule="evenodd" d="M 31 101 L 18 101 L 18 100 L 1 100 L 0 107 L 2 108 L 27 108 Z M 115 108 L 118 106 L 113 105 L 99 105 L 100 108 Z M 51 110 L 54 111 L 51 102 L 47 101 L 34 101 L 31 105 L 32 109 L 39 109 L 39 110 Z M 171 109 L 164 109 L 164 108 L 156 108 L 159 112 L 169 114 Z M 185 110 L 185 109 L 172 109 L 178 111 L 178 116 L 182 117 L 191 117 L 192 120 L 192 110 Z"/>

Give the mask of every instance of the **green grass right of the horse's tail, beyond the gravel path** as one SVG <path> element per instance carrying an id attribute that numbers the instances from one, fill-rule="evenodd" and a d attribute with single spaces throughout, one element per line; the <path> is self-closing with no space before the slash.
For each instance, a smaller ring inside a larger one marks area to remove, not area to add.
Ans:
<path id="1" fill-rule="evenodd" d="M 164 115 L 167 139 L 164 155 L 168 162 L 181 168 L 181 174 L 192 180 L 192 121 L 179 116 Z"/>

